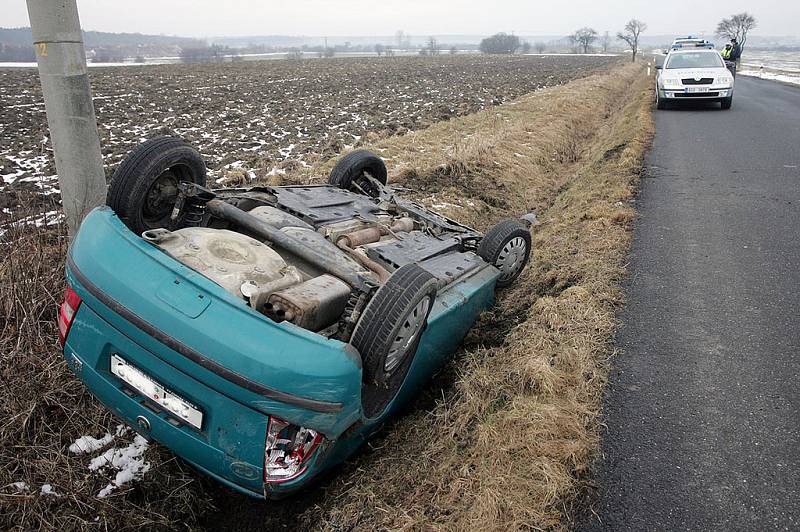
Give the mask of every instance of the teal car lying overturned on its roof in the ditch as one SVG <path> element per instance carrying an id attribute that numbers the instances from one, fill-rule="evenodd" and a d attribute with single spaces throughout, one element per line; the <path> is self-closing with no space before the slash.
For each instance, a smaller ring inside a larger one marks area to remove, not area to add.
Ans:
<path id="1" fill-rule="evenodd" d="M 356 451 L 530 257 L 530 217 L 483 235 L 400 197 L 363 150 L 326 185 L 205 177 L 180 139 L 128 155 L 69 250 L 60 340 L 117 416 L 254 497 Z"/>

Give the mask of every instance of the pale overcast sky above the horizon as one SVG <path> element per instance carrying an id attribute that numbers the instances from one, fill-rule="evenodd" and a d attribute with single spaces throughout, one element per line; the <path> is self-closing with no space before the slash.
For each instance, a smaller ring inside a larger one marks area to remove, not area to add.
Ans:
<path id="1" fill-rule="evenodd" d="M 758 35 L 800 35 L 800 0 L 78 0 L 86 30 L 187 37 L 430 34 L 562 35 L 582 26 L 615 32 L 633 17 L 647 33 L 713 32 L 749 11 Z M 0 0 L 0 26 L 27 26 L 24 0 Z"/>

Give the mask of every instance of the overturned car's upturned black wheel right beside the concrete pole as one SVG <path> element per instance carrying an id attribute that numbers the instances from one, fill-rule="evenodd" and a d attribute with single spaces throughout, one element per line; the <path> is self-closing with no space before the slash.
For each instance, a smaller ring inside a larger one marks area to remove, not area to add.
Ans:
<path id="1" fill-rule="evenodd" d="M 117 167 L 106 204 L 141 235 L 169 224 L 181 181 L 206 184 L 203 158 L 183 139 L 151 139 L 134 148 Z"/>

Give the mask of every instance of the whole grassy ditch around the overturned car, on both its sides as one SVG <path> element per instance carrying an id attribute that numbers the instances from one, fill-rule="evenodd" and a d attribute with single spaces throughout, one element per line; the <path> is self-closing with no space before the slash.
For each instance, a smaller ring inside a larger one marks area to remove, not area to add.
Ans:
<path id="1" fill-rule="evenodd" d="M 12 229 L 13 245 L 0 246 L 0 528 L 564 524 L 597 449 L 628 200 L 652 127 L 648 93 L 640 67 L 620 67 L 371 147 L 416 199 L 480 229 L 537 212 L 533 266 L 416 407 L 310 500 L 248 502 L 247 515 L 231 511 L 233 494 L 158 446 L 145 455 L 152 469 L 143 480 L 97 497 L 108 479 L 67 448 L 84 434 L 113 433 L 118 421 L 57 347 L 65 237 Z M 293 179 L 313 182 L 332 164 Z M 20 481 L 27 490 L 14 487 Z M 42 494 L 44 484 L 59 495 Z"/>

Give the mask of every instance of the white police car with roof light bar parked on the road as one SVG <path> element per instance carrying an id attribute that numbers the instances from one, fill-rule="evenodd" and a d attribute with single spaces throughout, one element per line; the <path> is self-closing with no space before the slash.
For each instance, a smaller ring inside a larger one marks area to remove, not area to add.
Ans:
<path id="1" fill-rule="evenodd" d="M 701 39 L 676 39 L 662 65 L 656 66 L 656 107 L 703 100 L 733 103 L 733 75 L 714 45 Z M 690 42 L 686 42 L 690 41 Z"/>

